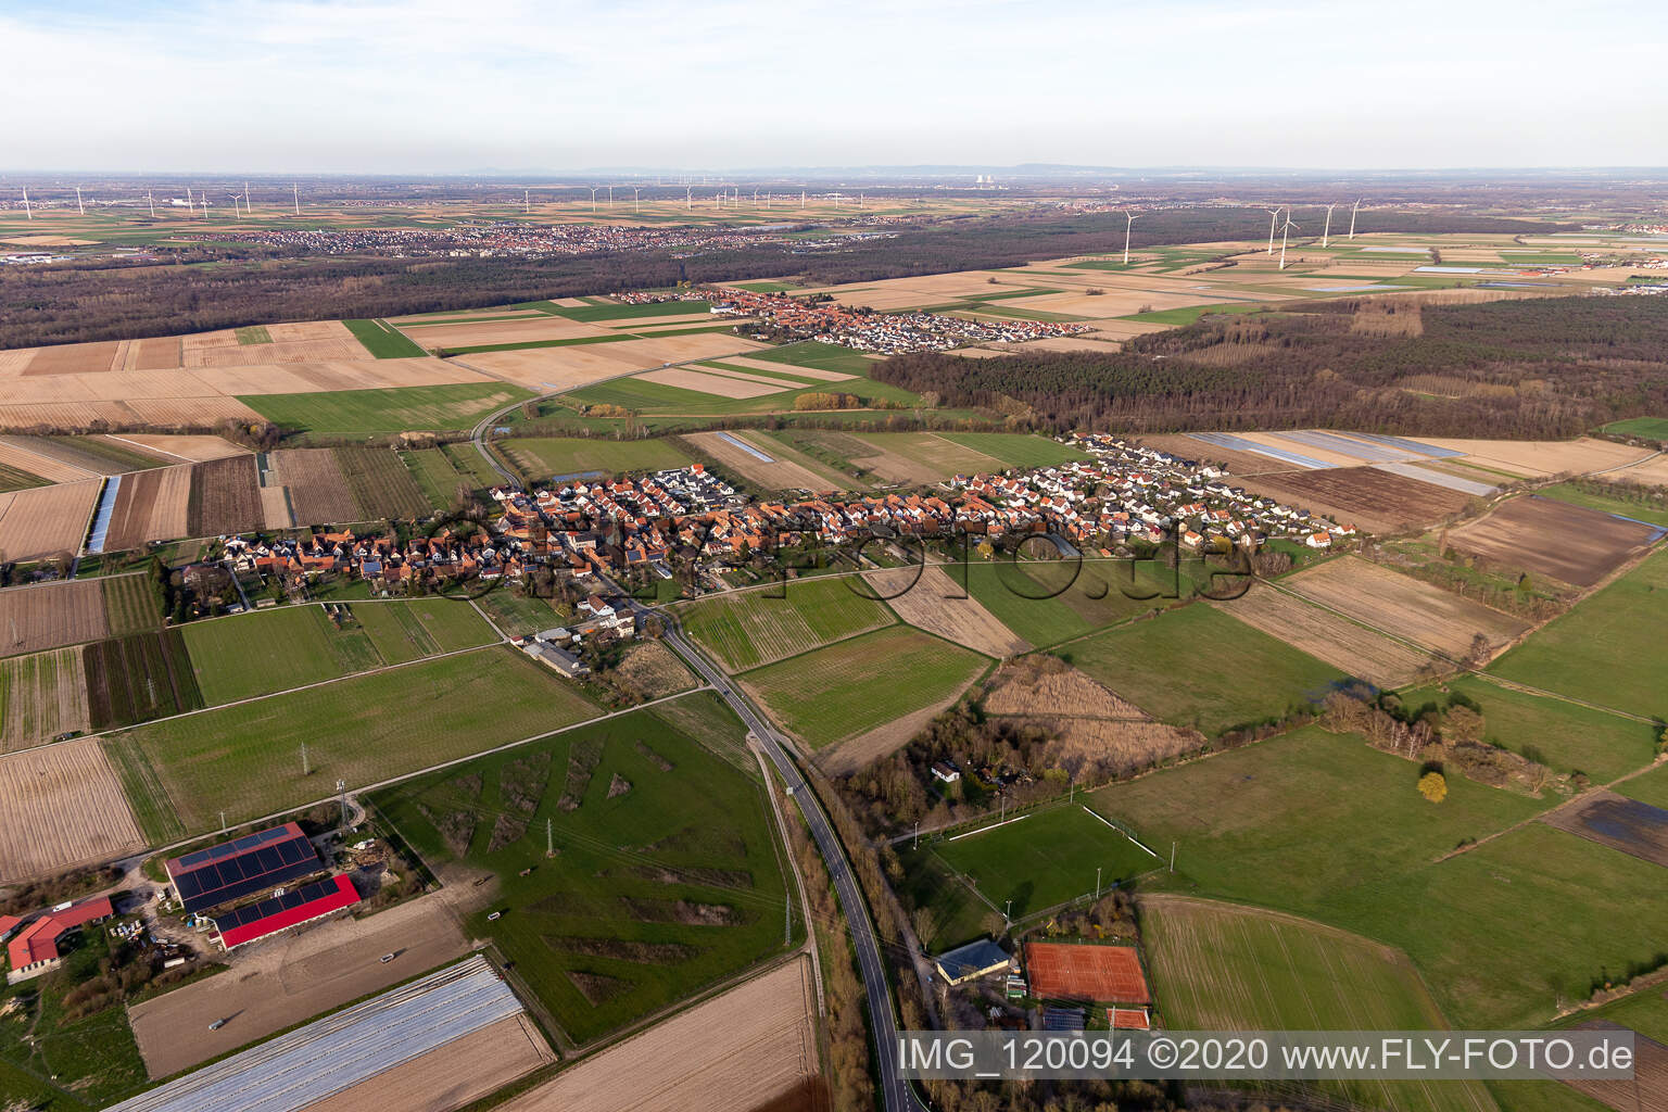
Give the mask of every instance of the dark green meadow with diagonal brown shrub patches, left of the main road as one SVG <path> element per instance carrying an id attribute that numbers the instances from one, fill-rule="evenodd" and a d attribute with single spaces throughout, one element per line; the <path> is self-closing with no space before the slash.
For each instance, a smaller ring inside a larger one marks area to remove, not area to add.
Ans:
<path id="1" fill-rule="evenodd" d="M 789 890 L 762 784 L 682 722 L 637 712 L 374 797 L 430 865 L 497 875 L 467 930 L 579 1042 L 784 952 Z"/>

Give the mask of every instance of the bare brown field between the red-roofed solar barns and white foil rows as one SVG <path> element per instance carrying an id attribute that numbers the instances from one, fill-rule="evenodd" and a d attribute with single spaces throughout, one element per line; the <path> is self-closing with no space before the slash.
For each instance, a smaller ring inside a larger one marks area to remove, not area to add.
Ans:
<path id="1" fill-rule="evenodd" d="M 377 960 L 394 952 L 395 960 Z M 128 1019 L 150 1077 L 168 1077 L 467 952 L 452 909 L 429 895 L 367 919 L 332 919 L 265 940 L 234 972 L 152 997 L 133 1005 Z M 195 1022 L 198 1015 L 235 1015 L 237 1022 L 207 1030 Z"/>

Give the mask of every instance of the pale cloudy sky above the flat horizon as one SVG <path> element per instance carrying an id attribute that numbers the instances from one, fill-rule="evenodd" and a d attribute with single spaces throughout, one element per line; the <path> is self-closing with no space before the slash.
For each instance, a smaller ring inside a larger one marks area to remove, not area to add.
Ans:
<path id="1" fill-rule="evenodd" d="M 1668 165 L 1660 0 L 7 0 L 0 43 L 10 172 Z"/>

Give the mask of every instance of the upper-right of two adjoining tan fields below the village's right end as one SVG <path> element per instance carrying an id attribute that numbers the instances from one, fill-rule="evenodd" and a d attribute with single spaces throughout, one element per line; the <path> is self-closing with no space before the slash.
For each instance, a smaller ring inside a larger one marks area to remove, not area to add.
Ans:
<path id="1" fill-rule="evenodd" d="M 1471 652 L 1478 634 L 1498 650 L 1526 629 L 1500 610 L 1358 557 L 1326 560 L 1281 582 L 1309 602 L 1456 660 Z"/>

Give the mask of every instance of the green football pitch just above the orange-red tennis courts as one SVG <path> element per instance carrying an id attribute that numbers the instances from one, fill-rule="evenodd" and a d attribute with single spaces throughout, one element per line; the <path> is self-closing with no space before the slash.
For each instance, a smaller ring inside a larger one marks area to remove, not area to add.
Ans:
<path id="1" fill-rule="evenodd" d="M 1113 889 L 1159 865 L 1153 854 L 1076 804 L 1034 810 L 954 840 L 922 844 L 901 857 L 906 869 L 914 869 L 921 857 L 931 857 L 944 870 L 971 879 L 996 910 L 1006 912 L 1007 900 L 1012 900 L 1016 920 L 1079 895 L 1093 895 L 1096 869 L 1101 870 L 1101 887 Z M 962 884 L 957 879 L 946 882 Z M 989 907 L 981 904 L 981 910 Z M 966 940 L 946 935 L 934 945 Z"/>

